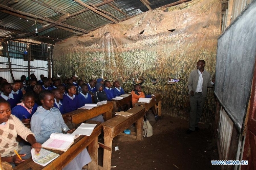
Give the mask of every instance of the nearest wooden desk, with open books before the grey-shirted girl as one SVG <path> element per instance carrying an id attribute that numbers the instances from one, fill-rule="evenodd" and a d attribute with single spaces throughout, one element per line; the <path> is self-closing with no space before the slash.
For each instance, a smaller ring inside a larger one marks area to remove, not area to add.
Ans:
<path id="1" fill-rule="evenodd" d="M 88 164 L 88 169 L 95 170 L 98 169 L 98 136 L 101 133 L 102 125 L 100 122 L 91 121 L 90 124 L 97 124 L 94 128 L 91 136 L 80 135 L 75 142 L 71 145 L 68 151 L 58 151 L 58 150 L 50 150 L 57 154 L 60 154 L 59 157 L 54 159 L 51 163 L 46 166 L 41 166 L 35 163 L 32 158 L 29 158 L 25 162 L 19 164 L 13 169 L 17 170 L 41 170 L 41 169 L 62 169 L 65 167 L 71 160 L 73 160 L 82 150 L 88 147 L 88 152 L 92 158 L 92 161 Z"/>

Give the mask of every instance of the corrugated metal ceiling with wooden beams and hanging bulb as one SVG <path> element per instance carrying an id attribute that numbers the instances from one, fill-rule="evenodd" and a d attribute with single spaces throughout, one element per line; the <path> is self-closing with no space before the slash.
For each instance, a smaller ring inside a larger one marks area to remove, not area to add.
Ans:
<path id="1" fill-rule="evenodd" d="M 188 1 L 191 0 L 0 0 L 0 39 L 55 44 L 148 10 Z"/>

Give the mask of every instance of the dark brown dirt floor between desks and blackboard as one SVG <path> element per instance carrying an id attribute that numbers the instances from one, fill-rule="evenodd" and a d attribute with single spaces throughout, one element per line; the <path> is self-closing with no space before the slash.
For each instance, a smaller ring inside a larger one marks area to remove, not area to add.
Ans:
<path id="1" fill-rule="evenodd" d="M 218 160 L 217 149 L 206 149 L 212 139 L 209 124 L 200 124 L 199 131 L 186 134 L 188 122 L 180 118 L 163 115 L 151 123 L 152 137 L 137 141 L 118 135 L 113 139 L 111 169 L 220 169 L 210 162 Z"/>

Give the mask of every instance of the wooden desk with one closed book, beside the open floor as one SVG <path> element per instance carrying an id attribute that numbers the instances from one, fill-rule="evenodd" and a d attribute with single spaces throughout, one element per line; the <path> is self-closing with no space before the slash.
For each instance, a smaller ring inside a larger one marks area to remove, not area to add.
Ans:
<path id="1" fill-rule="evenodd" d="M 126 111 L 133 113 L 131 116 L 117 115 L 108 121 L 102 123 L 104 130 L 104 145 L 109 149 L 104 149 L 103 153 L 103 168 L 110 169 L 111 166 L 111 153 L 112 153 L 112 140 L 118 134 L 122 133 L 125 129 L 129 128 L 133 123 L 136 123 L 136 136 L 137 140 L 143 139 L 143 115 L 145 113 L 144 107 L 135 106 Z M 132 137 L 132 134 L 130 135 Z"/>

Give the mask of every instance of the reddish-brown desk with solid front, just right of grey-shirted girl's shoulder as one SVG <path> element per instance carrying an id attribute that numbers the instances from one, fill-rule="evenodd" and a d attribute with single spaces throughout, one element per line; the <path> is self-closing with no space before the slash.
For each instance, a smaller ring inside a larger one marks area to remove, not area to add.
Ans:
<path id="1" fill-rule="evenodd" d="M 63 114 L 62 117 L 67 122 L 73 122 L 75 124 L 80 124 L 90 118 L 103 114 L 104 120 L 112 118 L 112 110 L 114 108 L 114 102 L 108 102 L 104 105 L 94 107 L 90 110 L 88 109 L 77 109 L 72 112 Z"/>

